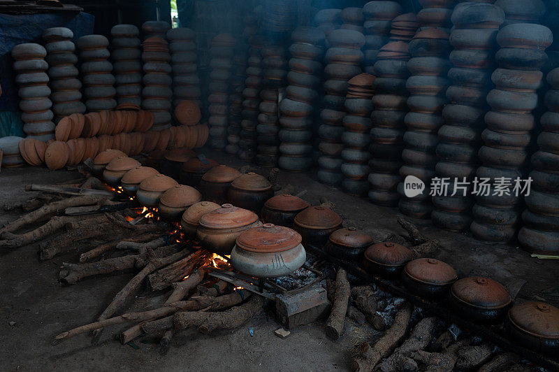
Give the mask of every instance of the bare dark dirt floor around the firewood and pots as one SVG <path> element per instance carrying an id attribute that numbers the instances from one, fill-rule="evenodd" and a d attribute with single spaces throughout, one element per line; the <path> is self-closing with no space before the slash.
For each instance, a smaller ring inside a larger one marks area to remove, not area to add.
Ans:
<path id="1" fill-rule="evenodd" d="M 244 165 L 223 154 L 208 152 L 208 156 L 224 164 Z M 2 169 L 0 201 L 29 199 L 34 193 L 24 192 L 24 185 L 60 183 L 78 177 L 75 171 Z M 303 198 L 313 204 L 325 196 L 335 203 L 345 226 L 361 228 L 377 240 L 391 232 L 405 234 L 396 222 L 397 209 L 377 207 L 367 199 L 348 196 L 313 177 L 312 172 L 282 172 L 279 182 L 292 185 L 296 192 L 307 190 Z M 0 225 L 20 213 L 0 211 Z M 532 258 L 516 246 L 482 244 L 468 234 L 441 231 L 428 220 L 415 222 L 423 234 L 440 239 L 442 248 L 436 257 L 451 264 L 459 276 L 490 276 L 505 285 L 525 280 L 517 299 L 559 305 L 559 261 Z M 368 327 L 349 322 L 342 338 L 334 343 L 326 338 L 324 324 L 317 322 L 280 339 L 273 332 L 279 328 L 273 315 L 261 314 L 235 331 L 216 331 L 209 336 L 194 330 L 182 331 L 173 338 L 166 355 L 160 355 L 159 345 L 147 338 L 136 340 L 138 349 L 114 341 L 112 336 L 126 327 L 106 329 L 96 345 L 91 345 L 89 336 L 82 335 L 52 346 L 56 334 L 94 320 L 132 277 L 131 273 L 123 273 L 61 285 L 57 280 L 61 263 L 78 262 L 79 245 L 76 248 L 73 253 L 47 262 L 39 262 L 37 245 L 0 250 L 1 371 L 345 371 L 354 346 L 378 336 Z M 153 294 L 136 303 L 149 304 L 163 295 Z"/>

